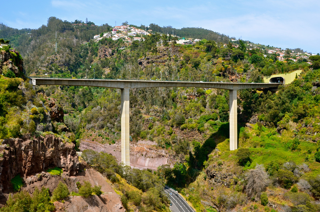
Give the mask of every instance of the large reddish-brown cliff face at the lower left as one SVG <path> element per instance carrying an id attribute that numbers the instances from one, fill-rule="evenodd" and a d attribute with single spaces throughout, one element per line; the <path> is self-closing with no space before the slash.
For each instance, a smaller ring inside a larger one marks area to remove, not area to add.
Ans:
<path id="1" fill-rule="evenodd" d="M 30 136 L 4 139 L 0 152 L 3 153 L 0 158 L 0 183 L 4 189 L 10 187 L 10 180 L 18 174 L 26 177 L 53 166 L 73 176 L 79 167 L 74 144 L 64 143 L 53 135 L 34 139 Z"/>

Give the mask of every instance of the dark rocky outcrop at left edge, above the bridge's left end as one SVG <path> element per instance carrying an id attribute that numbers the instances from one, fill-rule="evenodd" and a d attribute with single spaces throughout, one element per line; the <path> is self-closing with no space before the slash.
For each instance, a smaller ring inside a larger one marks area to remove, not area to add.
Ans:
<path id="1" fill-rule="evenodd" d="M 19 52 L 12 50 L 19 57 Z M 19 60 L 16 64 L 12 63 L 14 56 L 11 53 L 3 51 L 0 49 L 0 74 L 2 74 L 2 70 L 4 66 L 7 66 L 9 70 L 11 70 L 16 77 L 20 77 L 23 74 L 23 60 Z M 18 60 L 17 58 L 15 58 Z"/>

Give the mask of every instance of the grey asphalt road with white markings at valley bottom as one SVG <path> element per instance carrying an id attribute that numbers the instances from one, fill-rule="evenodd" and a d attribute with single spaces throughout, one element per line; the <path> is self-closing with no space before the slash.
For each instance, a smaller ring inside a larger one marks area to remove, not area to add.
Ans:
<path id="1" fill-rule="evenodd" d="M 194 212 L 194 210 L 188 205 L 181 195 L 168 186 L 164 186 L 164 192 L 168 195 L 171 200 L 172 206 L 170 210 L 173 212 Z M 170 195 L 172 193 L 172 195 Z M 178 195 L 178 196 L 176 196 Z"/>

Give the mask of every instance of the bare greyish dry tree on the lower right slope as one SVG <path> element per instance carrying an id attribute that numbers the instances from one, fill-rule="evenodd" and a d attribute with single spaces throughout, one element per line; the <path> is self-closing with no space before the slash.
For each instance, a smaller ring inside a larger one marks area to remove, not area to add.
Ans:
<path id="1" fill-rule="evenodd" d="M 262 191 L 266 190 L 269 184 L 269 176 L 263 164 L 257 164 L 255 169 L 248 170 L 246 174 L 247 185 L 245 192 L 249 197 L 260 198 Z"/>

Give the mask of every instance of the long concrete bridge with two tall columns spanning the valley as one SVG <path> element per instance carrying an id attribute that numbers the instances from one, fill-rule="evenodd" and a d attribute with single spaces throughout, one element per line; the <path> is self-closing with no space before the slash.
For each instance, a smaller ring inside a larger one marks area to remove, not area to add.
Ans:
<path id="1" fill-rule="evenodd" d="M 105 80 L 105 79 L 52 79 L 30 78 L 32 85 L 92 86 L 121 89 L 121 161 L 130 166 L 129 150 L 129 90 L 152 87 L 196 87 L 229 90 L 230 106 L 230 150 L 237 145 L 237 90 L 254 88 L 277 88 L 282 83 L 235 83 L 235 82 L 183 82 L 183 81 L 144 81 L 144 80 Z"/>

